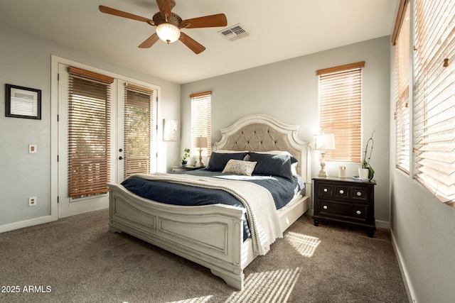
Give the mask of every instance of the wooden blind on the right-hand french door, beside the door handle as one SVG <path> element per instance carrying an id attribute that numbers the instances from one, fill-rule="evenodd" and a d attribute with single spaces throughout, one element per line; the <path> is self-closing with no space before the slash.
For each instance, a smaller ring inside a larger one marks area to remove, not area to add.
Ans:
<path id="1" fill-rule="evenodd" d="M 151 117 L 154 90 L 134 84 L 125 86 L 124 104 L 124 178 L 150 172 Z"/>

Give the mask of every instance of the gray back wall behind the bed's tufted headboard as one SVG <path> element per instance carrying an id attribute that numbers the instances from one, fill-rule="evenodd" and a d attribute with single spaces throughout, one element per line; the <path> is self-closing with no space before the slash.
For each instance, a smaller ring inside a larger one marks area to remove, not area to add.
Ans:
<path id="1" fill-rule="evenodd" d="M 375 217 L 389 222 L 389 95 L 390 37 L 368 40 L 321 53 L 242 70 L 228 75 L 183 84 L 181 87 L 181 148 L 190 145 L 190 94 L 211 90 L 212 140 L 220 140 L 220 128 L 247 114 L 268 114 L 288 124 L 300 125 L 299 136 L 309 140 L 319 133 L 318 77 L 316 70 L 365 61 L 363 68 L 363 138 L 375 132 L 371 165 L 375 169 Z M 313 175 L 319 172 L 314 152 Z M 329 175 L 338 175 L 339 162 L 328 162 Z M 346 163 L 343 163 L 345 165 Z M 347 164 L 346 174 L 357 175 L 358 164 Z"/>

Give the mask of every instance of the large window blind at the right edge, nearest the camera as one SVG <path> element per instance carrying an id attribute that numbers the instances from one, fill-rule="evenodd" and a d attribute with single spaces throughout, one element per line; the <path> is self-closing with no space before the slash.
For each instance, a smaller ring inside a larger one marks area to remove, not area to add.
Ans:
<path id="1" fill-rule="evenodd" d="M 455 199 L 455 0 L 417 0 L 414 177 L 443 202 Z"/>

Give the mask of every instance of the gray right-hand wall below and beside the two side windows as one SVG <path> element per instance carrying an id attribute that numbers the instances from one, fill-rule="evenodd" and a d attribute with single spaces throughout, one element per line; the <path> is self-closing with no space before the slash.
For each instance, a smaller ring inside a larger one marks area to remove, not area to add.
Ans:
<path id="1" fill-rule="evenodd" d="M 391 47 L 390 111 L 395 111 L 395 48 Z M 455 207 L 395 168 L 390 120 L 390 231 L 414 302 L 454 302 Z"/>

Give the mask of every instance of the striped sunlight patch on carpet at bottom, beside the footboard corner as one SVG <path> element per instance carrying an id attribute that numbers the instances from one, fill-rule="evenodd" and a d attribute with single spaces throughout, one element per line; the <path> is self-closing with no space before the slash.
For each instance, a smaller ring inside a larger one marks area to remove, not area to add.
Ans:
<path id="1" fill-rule="evenodd" d="M 255 272 L 245 279 L 241 292 L 233 292 L 228 302 L 287 302 L 301 268 Z"/>

